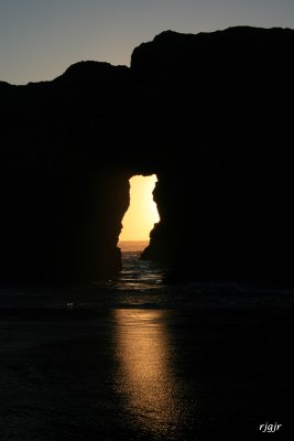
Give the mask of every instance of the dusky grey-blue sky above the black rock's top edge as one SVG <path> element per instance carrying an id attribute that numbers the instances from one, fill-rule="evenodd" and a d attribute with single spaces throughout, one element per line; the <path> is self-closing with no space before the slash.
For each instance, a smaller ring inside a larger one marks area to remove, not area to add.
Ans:
<path id="1" fill-rule="evenodd" d="M 165 30 L 294 28 L 294 0 L 0 0 L 0 80 L 53 79 L 81 60 L 130 65 Z"/>

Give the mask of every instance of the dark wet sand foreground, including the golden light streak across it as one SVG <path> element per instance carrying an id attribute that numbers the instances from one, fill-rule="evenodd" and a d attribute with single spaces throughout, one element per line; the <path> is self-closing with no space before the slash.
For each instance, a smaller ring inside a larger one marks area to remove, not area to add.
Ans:
<path id="1" fill-rule="evenodd" d="M 265 422 L 288 439 L 292 318 L 288 308 L 2 308 L 1 440 L 253 439 Z"/>

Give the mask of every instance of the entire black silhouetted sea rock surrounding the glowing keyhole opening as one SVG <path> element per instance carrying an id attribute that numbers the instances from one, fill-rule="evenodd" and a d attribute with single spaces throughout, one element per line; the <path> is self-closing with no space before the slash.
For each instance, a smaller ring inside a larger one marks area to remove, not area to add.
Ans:
<path id="1" fill-rule="evenodd" d="M 0 280 L 120 269 L 133 174 L 156 173 L 143 258 L 194 278 L 292 277 L 294 31 L 164 32 L 131 67 L 0 83 Z"/>

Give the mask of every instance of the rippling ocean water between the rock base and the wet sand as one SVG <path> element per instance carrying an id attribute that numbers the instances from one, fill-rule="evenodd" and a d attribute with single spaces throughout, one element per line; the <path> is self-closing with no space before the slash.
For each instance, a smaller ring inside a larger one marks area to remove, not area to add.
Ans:
<path id="1" fill-rule="evenodd" d="M 141 260 L 146 241 L 119 244 L 122 271 L 88 284 L 0 288 L 0 308 L 260 308 L 293 306 L 294 289 L 261 281 L 179 281 L 171 283 L 163 266 Z"/>

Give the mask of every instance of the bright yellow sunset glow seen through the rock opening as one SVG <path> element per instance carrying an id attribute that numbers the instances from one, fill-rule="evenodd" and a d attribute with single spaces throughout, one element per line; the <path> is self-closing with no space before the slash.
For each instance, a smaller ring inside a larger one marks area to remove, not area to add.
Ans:
<path id="1" fill-rule="evenodd" d="M 152 196 L 156 182 L 155 174 L 130 179 L 130 206 L 122 219 L 120 241 L 149 240 L 151 229 L 160 220 Z"/>

